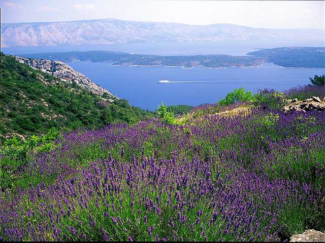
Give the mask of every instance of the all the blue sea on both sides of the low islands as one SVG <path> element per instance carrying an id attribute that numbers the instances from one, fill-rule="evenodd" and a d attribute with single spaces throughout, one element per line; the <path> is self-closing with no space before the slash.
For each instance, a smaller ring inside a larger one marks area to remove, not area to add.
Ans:
<path id="1" fill-rule="evenodd" d="M 247 55 L 263 48 L 309 46 L 323 47 L 323 41 L 228 41 L 191 43 L 129 43 L 116 45 L 83 45 L 54 47 L 2 48 L 6 54 L 42 52 L 119 51 L 153 55 Z M 240 87 L 253 93 L 264 88 L 283 91 L 307 85 L 309 77 L 325 74 L 324 68 L 283 68 L 273 63 L 257 67 L 183 68 L 167 66 L 113 66 L 108 62 L 74 61 L 68 63 L 94 83 L 143 109 L 155 110 L 165 105 L 200 105 L 215 103 Z M 159 80 L 169 82 L 158 83 Z"/>

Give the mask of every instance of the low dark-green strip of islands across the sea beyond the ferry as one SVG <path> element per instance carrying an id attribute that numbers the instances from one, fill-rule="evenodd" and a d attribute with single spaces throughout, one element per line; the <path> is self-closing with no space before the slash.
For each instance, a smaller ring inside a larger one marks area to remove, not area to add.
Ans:
<path id="1" fill-rule="evenodd" d="M 18 55 L 26 58 L 50 59 L 62 62 L 92 61 L 109 62 L 112 65 L 129 66 L 180 66 L 192 68 L 204 66 L 208 68 L 256 67 L 265 62 L 273 62 L 282 67 L 324 68 L 324 47 L 284 47 L 258 49 L 248 56 L 230 55 L 193 55 L 193 56 L 159 56 L 130 54 L 110 51 L 85 52 L 51 52 Z"/>

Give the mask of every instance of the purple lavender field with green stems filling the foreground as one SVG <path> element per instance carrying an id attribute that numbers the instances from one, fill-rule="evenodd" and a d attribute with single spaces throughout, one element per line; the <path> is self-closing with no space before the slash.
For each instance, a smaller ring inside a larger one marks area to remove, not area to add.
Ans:
<path id="1" fill-rule="evenodd" d="M 0 240 L 272 241 L 324 231 L 325 112 L 279 109 L 312 95 L 322 99 L 324 86 L 197 107 L 182 125 L 154 118 L 63 133 L 49 152 L 29 151 L 2 188 Z"/>

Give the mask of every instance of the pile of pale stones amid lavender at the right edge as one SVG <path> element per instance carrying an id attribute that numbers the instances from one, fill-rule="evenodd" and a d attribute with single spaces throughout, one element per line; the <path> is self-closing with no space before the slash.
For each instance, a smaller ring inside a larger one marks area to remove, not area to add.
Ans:
<path id="1" fill-rule="evenodd" d="M 325 108 L 325 97 L 321 101 L 319 97 L 312 96 L 310 99 L 306 100 L 287 100 L 286 105 L 282 108 L 284 113 L 291 111 L 303 111 L 308 110 L 324 110 Z"/>

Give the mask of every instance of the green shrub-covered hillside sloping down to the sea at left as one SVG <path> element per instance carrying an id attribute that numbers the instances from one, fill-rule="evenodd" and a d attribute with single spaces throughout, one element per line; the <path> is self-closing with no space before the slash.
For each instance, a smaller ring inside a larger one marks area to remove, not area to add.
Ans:
<path id="1" fill-rule="evenodd" d="M 64 69 L 58 69 L 62 66 Z M 60 63 L 55 68 L 56 73 L 71 74 L 66 64 Z M 63 81 L 1 53 L 1 141 L 5 137 L 42 134 L 52 127 L 95 129 L 115 121 L 133 123 L 152 117 L 152 113 L 133 107 L 108 92 L 94 94 L 106 90 L 87 78 L 76 79 L 82 76 L 66 77 Z M 86 90 L 77 84 L 78 81 L 82 86 L 93 86 Z"/>

